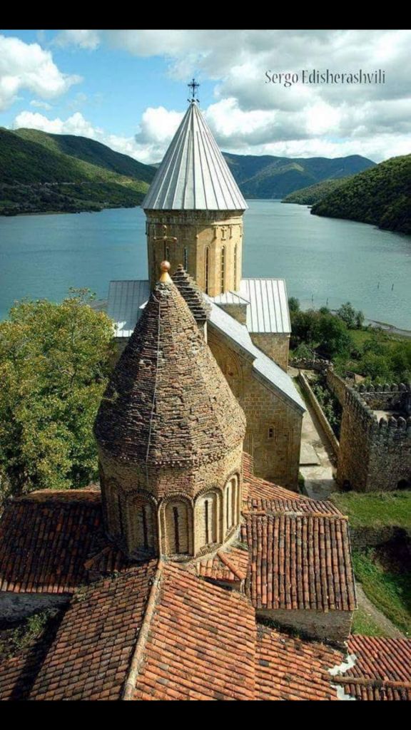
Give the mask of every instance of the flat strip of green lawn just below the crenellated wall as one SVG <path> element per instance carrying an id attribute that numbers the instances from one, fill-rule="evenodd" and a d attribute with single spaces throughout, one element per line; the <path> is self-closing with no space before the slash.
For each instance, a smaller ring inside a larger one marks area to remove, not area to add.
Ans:
<path id="1" fill-rule="evenodd" d="M 348 515 L 352 527 L 411 528 L 411 491 L 333 493 L 333 504 Z"/>

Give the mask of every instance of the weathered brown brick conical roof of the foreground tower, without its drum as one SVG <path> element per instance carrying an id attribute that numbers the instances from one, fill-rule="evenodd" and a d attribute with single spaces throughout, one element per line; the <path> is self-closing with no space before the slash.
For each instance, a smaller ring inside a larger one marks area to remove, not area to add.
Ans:
<path id="1" fill-rule="evenodd" d="M 141 466 L 216 461 L 246 420 L 176 285 L 157 284 L 119 359 L 94 433 L 111 456 Z"/>

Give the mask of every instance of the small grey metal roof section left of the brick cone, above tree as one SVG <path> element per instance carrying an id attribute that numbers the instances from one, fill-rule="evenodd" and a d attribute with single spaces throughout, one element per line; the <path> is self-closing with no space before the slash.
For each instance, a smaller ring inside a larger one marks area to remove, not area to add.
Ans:
<path id="1" fill-rule="evenodd" d="M 110 281 L 107 313 L 116 322 L 116 337 L 131 337 L 149 296 L 149 281 Z"/>

